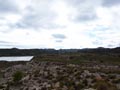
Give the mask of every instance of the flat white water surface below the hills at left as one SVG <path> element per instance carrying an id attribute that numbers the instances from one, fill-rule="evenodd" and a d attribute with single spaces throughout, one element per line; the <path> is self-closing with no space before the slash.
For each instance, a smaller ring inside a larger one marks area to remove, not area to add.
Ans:
<path id="1" fill-rule="evenodd" d="M 0 61 L 30 61 L 34 56 L 5 56 L 0 57 Z"/>

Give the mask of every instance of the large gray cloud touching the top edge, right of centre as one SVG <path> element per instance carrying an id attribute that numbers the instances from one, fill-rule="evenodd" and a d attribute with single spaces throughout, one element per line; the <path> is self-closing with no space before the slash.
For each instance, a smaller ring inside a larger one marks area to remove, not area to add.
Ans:
<path id="1" fill-rule="evenodd" d="M 100 2 L 91 3 L 90 0 L 70 0 L 66 3 L 74 8 L 71 15 L 71 20 L 75 22 L 86 22 L 97 19 L 95 8 L 100 5 Z M 74 14 L 75 13 L 75 14 Z"/>

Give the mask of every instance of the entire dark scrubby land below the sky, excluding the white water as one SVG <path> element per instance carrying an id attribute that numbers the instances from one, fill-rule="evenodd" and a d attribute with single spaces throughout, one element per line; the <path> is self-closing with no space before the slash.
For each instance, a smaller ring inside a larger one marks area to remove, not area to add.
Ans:
<path id="1" fill-rule="evenodd" d="M 3 51 L 4 55 L 22 53 L 34 58 L 1 61 L 0 90 L 120 90 L 119 48 Z"/>

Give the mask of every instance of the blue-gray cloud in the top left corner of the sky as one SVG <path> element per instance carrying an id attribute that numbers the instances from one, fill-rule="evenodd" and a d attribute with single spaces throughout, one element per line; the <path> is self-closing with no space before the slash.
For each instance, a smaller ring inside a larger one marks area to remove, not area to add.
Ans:
<path id="1" fill-rule="evenodd" d="M 16 12 L 18 10 L 17 5 L 12 0 L 0 0 L 0 12 L 8 13 L 8 12 Z"/>

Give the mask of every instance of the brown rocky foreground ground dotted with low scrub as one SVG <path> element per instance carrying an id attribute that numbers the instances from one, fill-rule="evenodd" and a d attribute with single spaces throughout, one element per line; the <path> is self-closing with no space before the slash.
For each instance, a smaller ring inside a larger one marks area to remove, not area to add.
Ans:
<path id="1" fill-rule="evenodd" d="M 16 72 L 22 77 L 14 80 Z M 119 65 L 30 61 L 0 74 L 0 90 L 120 90 Z"/>

